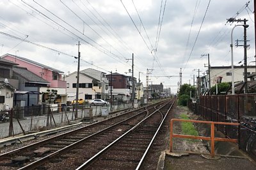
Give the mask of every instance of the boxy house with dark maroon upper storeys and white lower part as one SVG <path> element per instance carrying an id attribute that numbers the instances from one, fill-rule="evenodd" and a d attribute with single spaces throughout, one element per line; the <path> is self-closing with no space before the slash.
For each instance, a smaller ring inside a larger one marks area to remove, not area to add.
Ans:
<path id="1" fill-rule="evenodd" d="M 112 87 L 113 99 L 129 101 L 132 94 L 132 77 L 120 73 L 107 74 L 106 77 Z M 112 78 L 112 79 L 111 79 Z M 134 83 L 135 84 L 135 83 Z"/>

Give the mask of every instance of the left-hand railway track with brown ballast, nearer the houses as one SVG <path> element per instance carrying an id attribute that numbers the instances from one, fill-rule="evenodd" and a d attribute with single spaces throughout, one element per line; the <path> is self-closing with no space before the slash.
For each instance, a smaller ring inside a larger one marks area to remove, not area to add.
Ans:
<path id="1" fill-rule="evenodd" d="M 139 122 L 152 117 L 160 105 L 163 103 L 3 153 L 0 155 L 0 169 L 76 169 L 134 129 Z"/>

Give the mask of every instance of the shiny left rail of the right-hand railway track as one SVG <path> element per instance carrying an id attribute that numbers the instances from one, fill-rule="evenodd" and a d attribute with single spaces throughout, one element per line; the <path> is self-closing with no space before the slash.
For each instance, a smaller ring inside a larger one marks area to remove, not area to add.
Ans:
<path id="1" fill-rule="evenodd" d="M 168 102 L 170 103 L 170 102 Z M 165 103 L 163 106 L 161 106 L 161 108 L 163 108 L 166 104 Z M 134 125 L 134 127 L 132 127 L 132 129 L 130 129 L 129 131 L 125 132 L 124 134 L 122 134 L 122 136 L 120 136 L 119 138 L 115 139 L 115 141 L 113 141 L 112 143 L 110 143 L 108 146 L 106 146 L 105 148 L 103 148 L 102 150 L 100 150 L 100 152 L 96 153 L 93 157 L 91 157 L 90 159 L 88 159 L 86 162 L 84 162 L 81 166 L 77 167 L 76 170 L 81 170 L 81 169 L 86 169 L 86 167 L 90 166 L 90 164 L 93 163 L 94 160 L 96 160 L 100 155 L 102 155 L 102 153 L 106 152 L 106 150 L 108 150 L 108 148 L 110 148 L 111 146 L 115 145 L 116 143 L 118 143 L 118 141 L 120 141 L 120 139 L 124 138 L 127 136 L 127 134 L 130 134 L 132 131 L 134 131 L 134 129 L 136 129 L 138 126 L 140 126 L 143 122 L 145 122 L 145 120 L 147 120 L 148 118 L 150 118 L 152 115 L 154 115 L 154 113 L 156 113 L 158 110 L 160 110 L 161 108 L 157 109 L 156 111 L 154 111 L 153 113 L 151 113 L 150 115 L 148 115 L 148 117 L 145 117 L 143 120 L 141 120 L 138 124 Z M 156 109 L 156 108 L 155 108 Z"/>

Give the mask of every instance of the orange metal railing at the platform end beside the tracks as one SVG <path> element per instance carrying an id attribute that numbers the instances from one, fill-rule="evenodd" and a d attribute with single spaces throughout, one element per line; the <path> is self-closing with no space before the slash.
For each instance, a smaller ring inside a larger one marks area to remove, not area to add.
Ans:
<path id="1" fill-rule="evenodd" d="M 185 134 L 173 134 L 173 122 L 193 122 L 193 123 L 202 123 L 202 124 L 211 124 L 211 137 L 206 136 L 191 136 L 191 135 L 185 135 Z M 203 139 L 211 141 L 211 157 L 214 157 L 214 141 L 228 141 L 228 142 L 234 142 L 237 143 L 237 139 L 227 139 L 227 138 L 215 138 L 214 136 L 214 124 L 219 125 L 240 125 L 239 123 L 229 123 L 229 122 L 212 122 L 212 121 L 202 121 L 202 120 L 184 120 L 184 119 L 178 119 L 173 118 L 171 120 L 170 125 L 170 152 L 172 152 L 172 144 L 173 138 L 189 138 L 189 139 Z"/>

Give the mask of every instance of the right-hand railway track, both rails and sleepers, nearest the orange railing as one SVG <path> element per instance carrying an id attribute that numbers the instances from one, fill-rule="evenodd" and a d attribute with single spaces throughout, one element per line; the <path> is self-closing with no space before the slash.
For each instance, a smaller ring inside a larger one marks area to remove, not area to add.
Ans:
<path id="1" fill-rule="evenodd" d="M 84 162 L 77 170 L 140 169 L 173 103 L 174 101 L 170 101 L 161 106 L 111 145 Z"/>

